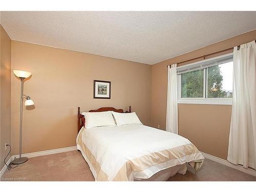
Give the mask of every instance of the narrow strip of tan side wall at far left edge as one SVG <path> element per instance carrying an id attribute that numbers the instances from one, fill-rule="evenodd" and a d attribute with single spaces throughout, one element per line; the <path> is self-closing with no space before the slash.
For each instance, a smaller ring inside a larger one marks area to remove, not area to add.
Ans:
<path id="1" fill-rule="evenodd" d="M 11 39 L 0 25 L 0 170 L 9 151 L 5 143 L 11 144 Z"/>

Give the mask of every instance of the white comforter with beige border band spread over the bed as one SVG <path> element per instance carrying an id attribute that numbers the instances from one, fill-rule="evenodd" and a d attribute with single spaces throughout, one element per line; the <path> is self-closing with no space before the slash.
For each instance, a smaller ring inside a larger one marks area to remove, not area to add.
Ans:
<path id="1" fill-rule="evenodd" d="M 79 135 L 81 135 L 80 138 L 82 144 L 78 141 Z M 95 180 L 104 180 L 97 179 L 99 172 L 103 172 L 106 175 L 107 179 L 105 180 L 116 180 L 115 178 L 118 174 L 120 174 L 120 170 L 126 166 L 125 163 L 127 162 L 132 162 L 132 168 L 130 168 L 132 170 L 131 173 L 128 173 L 128 178 L 124 180 L 131 181 L 134 178 L 150 178 L 160 170 L 178 164 L 192 161 L 198 161 L 202 163 L 202 160 L 204 159 L 196 147 L 196 150 L 194 150 L 194 152 L 191 154 L 185 154 L 182 151 L 179 151 L 179 146 L 183 146 L 183 148 L 184 146 L 194 146 L 188 139 L 142 124 L 112 127 L 93 127 L 91 129 L 82 128 L 77 137 L 77 147 L 78 150 L 80 150 L 84 155 L 85 152 L 81 146 L 83 144 L 86 146 L 87 151 L 89 150 L 91 154 L 85 154 L 86 156 L 90 156 L 86 157 L 86 160 L 92 161 L 91 158 L 93 157 L 95 158 L 97 164 L 100 166 L 97 168 L 95 167 L 95 163 L 89 162 L 89 165 L 91 165 L 90 168 L 94 169 L 92 170 L 92 173 L 95 177 Z M 161 159 L 162 156 L 155 157 L 154 155 L 156 153 L 165 152 L 165 150 L 170 149 L 174 149 L 173 152 L 175 153 L 173 153 L 173 156 L 175 156 L 175 158 L 168 159 L 164 156 L 165 160 L 160 162 L 159 159 Z M 143 158 L 139 159 L 140 157 Z M 145 157 L 147 160 L 145 160 Z M 142 162 L 141 164 L 143 164 L 143 166 L 141 167 L 146 168 L 139 168 L 139 170 L 137 167 L 137 170 L 136 168 L 133 169 L 133 167 L 138 166 L 138 163 L 136 165 L 136 162 Z M 129 168 L 127 167 L 123 169 L 126 174 L 129 172 L 128 169 Z"/>

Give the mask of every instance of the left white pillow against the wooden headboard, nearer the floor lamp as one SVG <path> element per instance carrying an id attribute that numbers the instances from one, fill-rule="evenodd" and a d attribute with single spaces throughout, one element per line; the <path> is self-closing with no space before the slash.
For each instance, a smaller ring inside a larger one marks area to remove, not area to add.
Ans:
<path id="1" fill-rule="evenodd" d="M 111 111 L 104 112 L 83 112 L 86 119 L 84 127 L 91 128 L 95 126 L 116 126 Z"/>

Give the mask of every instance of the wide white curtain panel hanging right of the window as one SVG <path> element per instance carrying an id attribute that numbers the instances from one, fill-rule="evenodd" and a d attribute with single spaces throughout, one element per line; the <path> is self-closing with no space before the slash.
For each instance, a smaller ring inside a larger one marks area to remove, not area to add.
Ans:
<path id="1" fill-rule="evenodd" d="M 233 103 L 227 160 L 256 169 L 256 46 L 233 51 Z"/>

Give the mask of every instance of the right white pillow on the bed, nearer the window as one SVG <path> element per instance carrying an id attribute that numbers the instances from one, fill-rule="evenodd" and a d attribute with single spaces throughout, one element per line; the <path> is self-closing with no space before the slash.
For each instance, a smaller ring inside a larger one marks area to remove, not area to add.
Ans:
<path id="1" fill-rule="evenodd" d="M 117 126 L 121 126 L 124 124 L 142 124 L 135 112 L 133 113 L 117 113 L 114 111 L 111 111 L 111 112 L 115 117 Z"/>

